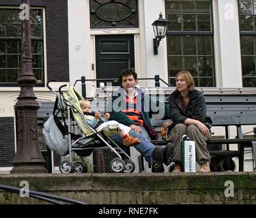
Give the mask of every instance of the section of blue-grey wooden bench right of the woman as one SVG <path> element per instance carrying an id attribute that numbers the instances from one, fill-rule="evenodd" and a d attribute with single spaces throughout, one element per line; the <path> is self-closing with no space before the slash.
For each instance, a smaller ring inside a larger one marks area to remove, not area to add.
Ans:
<path id="1" fill-rule="evenodd" d="M 254 138 L 244 137 L 243 127 L 256 125 L 256 91 L 255 89 L 220 89 L 216 93 L 205 95 L 207 114 L 212 118 L 214 126 L 225 127 L 224 139 L 212 139 L 208 145 L 226 144 L 226 151 L 210 151 L 213 157 L 226 157 L 226 165 L 231 164 L 230 157 L 238 157 L 239 171 L 244 171 L 244 148 L 252 147 L 256 163 L 256 132 Z M 231 138 L 229 127 L 234 126 L 236 138 Z M 238 144 L 238 151 L 230 151 L 229 144 Z M 237 153 L 236 153 L 237 152 Z M 224 164 L 224 163 L 223 163 Z"/>

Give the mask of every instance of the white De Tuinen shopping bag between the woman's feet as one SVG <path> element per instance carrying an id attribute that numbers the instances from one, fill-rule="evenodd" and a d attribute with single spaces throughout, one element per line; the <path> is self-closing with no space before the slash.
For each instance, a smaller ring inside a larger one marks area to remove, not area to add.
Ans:
<path id="1" fill-rule="evenodd" d="M 182 163 L 184 172 L 197 172 L 195 142 L 186 135 L 182 136 Z"/>

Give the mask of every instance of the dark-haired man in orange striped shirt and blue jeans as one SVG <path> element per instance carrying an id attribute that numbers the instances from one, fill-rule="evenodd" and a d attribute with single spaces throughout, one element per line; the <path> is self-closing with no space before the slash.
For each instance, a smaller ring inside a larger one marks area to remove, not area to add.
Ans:
<path id="1" fill-rule="evenodd" d="M 162 119 L 169 118 L 169 107 L 136 87 L 138 79 L 134 69 L 124 69 L 119 81 L 122 86 L 113 92 L 108 104 L 111 119 L 128 125 L 132 129 L 129 134 L 141 140 L 134 148 L 152 163 L 152 172 L 164 172 L 162 149 L 150 142 L 155 137 L 150 114 L 157 109 L 158 113 L 162 112 Z"/>

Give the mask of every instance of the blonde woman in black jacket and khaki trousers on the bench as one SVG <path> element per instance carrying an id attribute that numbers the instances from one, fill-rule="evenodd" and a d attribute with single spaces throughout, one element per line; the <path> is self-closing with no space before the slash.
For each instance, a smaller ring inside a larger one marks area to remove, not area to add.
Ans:
<path id="1" fill-rule="evenodd" d="M 212 134 L 212 122 L 206 116 L 206 105 L 203 93 L 195 89 L 195 81 L 188 71 L 181 71 L 175 76 L 176 90 L 169 96 L 172 123 L 170 137 L 174 144 L 175 167 L 173 172 L 182 171 L 182 136 L 187 135 L 195 141 L 196 160 L 200 165 L 199 172 L 210 172 L 210 153 L 206 142 Z M 209 123 L 208 123 L 209 122 Z"/>

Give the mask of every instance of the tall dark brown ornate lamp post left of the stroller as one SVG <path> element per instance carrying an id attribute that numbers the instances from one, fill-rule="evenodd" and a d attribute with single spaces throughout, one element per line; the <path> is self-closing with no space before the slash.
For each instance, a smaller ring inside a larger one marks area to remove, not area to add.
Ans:
<path id="1" fill-rule="evenodd" d="M 38 143 L 37 110 L 40 106 L 33 93 L 36 79 L 32 71 L 29 0 L 23 0 L 22 6 L 25 14 L 22 20 L 21 72 L 18 78 L 20 95 L 15 106 L 18 120 L 17 151 L 11 173 L 40 173 L 46 172 L 46 168 Z"/>

